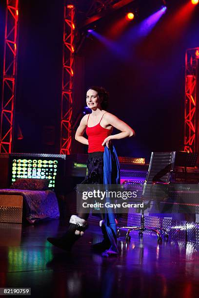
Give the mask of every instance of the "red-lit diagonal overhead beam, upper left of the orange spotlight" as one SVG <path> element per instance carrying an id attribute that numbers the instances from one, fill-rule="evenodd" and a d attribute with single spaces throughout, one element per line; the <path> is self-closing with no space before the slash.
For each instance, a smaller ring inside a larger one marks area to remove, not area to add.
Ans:
<path id="1" fill-rule="evenodd" d="M 106 10 L 103 10 L 101 11 L 99 14 L 96 14 L 96 15 L 93 15 L 91 16 L 90 18 L 86 19 L 81 25 L 80 25 L 80 28 L 83 28 L 89 24 L 92 24 L 93 22 L 101 19 L 101 18 L 104 18 L 110 11 L 115 11 L 115 10 L 118 10 L 120 9 L 121 7 L 133 2 L 135 0 L 120 0 L 118 1 L 117 3 L 113 4 L 113 5 L 110 5 L 109 6 L 109 9 L 106 9 Z M 95 13 L 95 11 L 94 11 Z M 88 17 L 88 16 L 87 16 Z"/>

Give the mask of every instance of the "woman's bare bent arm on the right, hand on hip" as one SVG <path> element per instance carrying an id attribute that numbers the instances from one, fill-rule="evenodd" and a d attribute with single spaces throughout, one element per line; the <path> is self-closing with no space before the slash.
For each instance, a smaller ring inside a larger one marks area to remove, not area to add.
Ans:
<path id="1" fill-rule="evenodd" d="M 119 139 L 135 136 L 135 131 L 115 115 L 111 113 L 107 113 L 106 117 L 104 115 L 104 120 L 106 121 L 106 123 L 108 123 L 109 125 L 112 125 L 113 127 L 120 130 L 121 132 L 110 135 L 107 138 L 105 138 L 102 143 L 102 146 L 109 145 L 110 140 L 114 140 L 114 139 L 119 140 Z M 109 148 L 109 146 L 107 147 Z"/>

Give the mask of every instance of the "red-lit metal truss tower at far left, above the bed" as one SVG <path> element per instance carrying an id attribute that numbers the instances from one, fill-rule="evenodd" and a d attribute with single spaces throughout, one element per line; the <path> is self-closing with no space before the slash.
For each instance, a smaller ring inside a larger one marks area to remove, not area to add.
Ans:
<path id="1" fill-rule="evenodd" d="M 0 152 L 12 150 L 13 114 L 18 46 L 19 0 L 7 0 L 3 56 L 2 104 L 0 118 Z"/>

